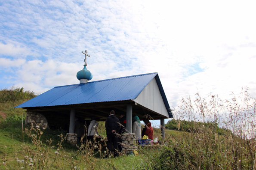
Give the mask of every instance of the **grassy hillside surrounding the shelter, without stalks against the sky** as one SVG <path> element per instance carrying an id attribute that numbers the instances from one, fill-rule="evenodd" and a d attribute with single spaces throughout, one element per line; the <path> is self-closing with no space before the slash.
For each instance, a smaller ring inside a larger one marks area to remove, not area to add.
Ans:
<path id="1" fill-rule="evenodd" d="M 105 159 L 105 150 L 97 145 L 67 144 L 64 131 L 23 126 L 25 111 L 13 107 L 35 94 L 22 88 L 11 91 L 0 91 L 0 169 L 256 169 L 255 138 L 194 120 L 168 122 L 166 128 L 175 130 L 166 129 L 164 140 L 154 128 L 165 146 L 139 147 L 138 155 Z M 104 122 L 99 133 L 105 140 Z"/>

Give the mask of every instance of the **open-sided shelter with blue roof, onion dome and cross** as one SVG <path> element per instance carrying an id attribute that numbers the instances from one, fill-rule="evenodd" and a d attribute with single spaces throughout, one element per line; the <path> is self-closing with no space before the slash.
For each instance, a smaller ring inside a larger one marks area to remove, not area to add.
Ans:
<path id="1" fill-rule="evenodd" d="M 75 118 L 105 121 L 111 110 L 126 114 L 130 132 L 135 115 L 160 119 L 162 127 L 164 119 L 173 117 L 157 72 L 89 82 L 93 76 L 86 65 L 85 60 L 83 70 L 77 72 L 80 84 L 56 86 L 17 107 L 45 116 L 50 128 L 69 125 L 69 133 L 74 133 Z"/>

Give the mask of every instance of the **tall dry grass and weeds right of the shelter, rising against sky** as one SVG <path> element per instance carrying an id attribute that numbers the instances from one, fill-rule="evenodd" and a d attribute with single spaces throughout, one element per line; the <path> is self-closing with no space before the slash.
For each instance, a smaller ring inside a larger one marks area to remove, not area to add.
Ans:
<path id="1" fill-rule="evenodd" d="M 218 95 L 202 98 L 197 93 L 194 100 L 182 98 L 173 115 L 179 129 L 185 127 L 184 119 L 191 122 L 191 129 L 169 140 L 170 145 L 154 162 L 157 168 L 255 170 L 256 99 L 250 97 L 247 88 L 231 96 L 231 100 L 221 100 Z M 219 126 L 230 131 L 219 135 Z"/>

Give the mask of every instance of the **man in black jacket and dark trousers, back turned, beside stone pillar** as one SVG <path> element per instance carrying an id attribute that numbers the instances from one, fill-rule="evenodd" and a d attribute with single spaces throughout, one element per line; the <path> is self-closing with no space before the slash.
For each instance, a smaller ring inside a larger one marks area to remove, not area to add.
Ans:
<path id="1" fill-rule="evenodd" d="M 117 132 L 120 130 L 120 122 L 119 119 L 115 116 L 114 110 L 111 110 L 109 116 L 105 122 L 106 134 L 107 134 L 107 147 L 108 147 L 108 155 L 112 151 L 112 143 L 114 145 L 114 157 L 118 156 L 117 150 Z"/>

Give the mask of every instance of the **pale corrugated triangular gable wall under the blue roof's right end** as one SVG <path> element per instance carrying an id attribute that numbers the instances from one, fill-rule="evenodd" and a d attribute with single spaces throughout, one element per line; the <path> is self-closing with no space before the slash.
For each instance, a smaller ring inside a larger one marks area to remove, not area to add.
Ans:
<path id="1" fill-rule="evenodd" d="M 163 116 L 169 117 L 155 78 L 150 81 L 133 101 Z"/>

